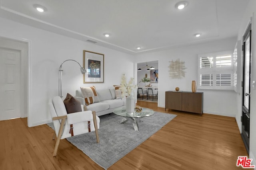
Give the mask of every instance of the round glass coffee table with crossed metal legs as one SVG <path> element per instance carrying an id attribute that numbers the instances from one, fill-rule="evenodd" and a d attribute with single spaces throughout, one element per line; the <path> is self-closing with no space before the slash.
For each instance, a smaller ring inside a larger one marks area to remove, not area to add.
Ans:
<path id="1" fill-rule="evenodd" d="M 132 122 L 134 130 L 135 131 L 139 131 L 139 127 L 138 127 L 138 123 L 137 122 L 142 122 L 140 120 L 141 117 L 148 117 L 151 116 L 155 113 L 154 110 L 152 109 L 148 109 L 145 107 L 142 107 L 142 111 L 141 112 L 136 112 L 134 109 L 134 112 L 132 113 L 127 113 L 126 112 L 126 107 L 119 107 L 117 109 L 115 109 L 113 111 L 114 114 L 118 115 L 118 116 L 122 116 L 124 117 L 119 123 L 125 123 L 128 120 Z"/>

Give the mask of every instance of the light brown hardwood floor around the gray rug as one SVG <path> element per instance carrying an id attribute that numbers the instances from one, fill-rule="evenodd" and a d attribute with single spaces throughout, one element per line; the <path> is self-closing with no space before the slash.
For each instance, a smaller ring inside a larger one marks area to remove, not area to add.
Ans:
<path id="1" fill-rule="evenodd" d="M 138 105 L 176 116 L 160 131 L 108 170 L 235 170 L 238 156 L 248 156 L 234 117 L 165 111 L 157 103 Z M 102 170 L 88 156 L 60 141 L 52 157 L 54 131 L 27 127 L 27 119 L 0 121 L 1 170 Z"/>

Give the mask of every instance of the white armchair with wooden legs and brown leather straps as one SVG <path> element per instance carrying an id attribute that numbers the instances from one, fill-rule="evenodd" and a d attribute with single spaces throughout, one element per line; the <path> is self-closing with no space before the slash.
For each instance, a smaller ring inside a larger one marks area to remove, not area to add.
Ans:
<path id="1" fill-rule="evenodd" d="M 57 136 L 53 156 L 57 154 L 60 139 L 71 137 L 72 133 L 75 136 L 95 131 L 96 141 L 99 143 L 100 118 L 96 116 L 95 111 L 80 111 L 68 114 L 64 102 L 59 96 L 50 99 L 48 106 L 55 129 L 53 139 L 55 139 L 55 135 Z M 82 105 L 81 107 L 83 110 Z"/>

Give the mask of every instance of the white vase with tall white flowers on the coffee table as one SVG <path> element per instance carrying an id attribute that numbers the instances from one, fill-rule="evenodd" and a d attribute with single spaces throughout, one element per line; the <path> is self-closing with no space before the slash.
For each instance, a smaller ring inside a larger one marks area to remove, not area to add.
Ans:
<path id="1" fill-rule="evenodd" d="M 134 85 L 134 78 L 130 78 L 129 82 L 126 81 L 126 75 L 122 74 L 120 90 L 122 91 L 122 97 L 126 96 L 126 111 L 127 113 L 134 112 L 134 90 L 137 88 Z"/>

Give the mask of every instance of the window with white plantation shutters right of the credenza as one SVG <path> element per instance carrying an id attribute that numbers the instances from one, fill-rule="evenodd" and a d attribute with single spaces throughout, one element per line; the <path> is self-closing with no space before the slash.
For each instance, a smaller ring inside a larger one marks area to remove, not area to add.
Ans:
<path id="1" fill-rule="evenodd" d="M 198 89 L 232 90 L 232 60 L 231 51 L 198 55 Z"/>

